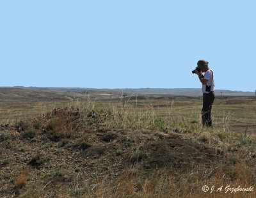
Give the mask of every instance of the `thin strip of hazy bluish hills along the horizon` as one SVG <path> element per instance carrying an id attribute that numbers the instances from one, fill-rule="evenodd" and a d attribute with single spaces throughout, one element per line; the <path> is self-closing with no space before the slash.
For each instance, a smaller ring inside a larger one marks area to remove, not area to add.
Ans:
<path id="1" fill-rule="evenodd" d="M 163 88 L 139 88 L 139 89 L 95 89 L 95 88 L 44 88 L 44 87 L 23 87 L 23 86 L 14 86 L 14 87 L 0 87 L 0 88 L 19 88 L 19 89 L 31 89 L 35 91 L 57 91 L 57 92 L 74 92 L 74 93 L 89 93 L 89 92 L 104 92 L 104 93 L 129 93 L 129 94 L 146 94 L 146 95 L 193 95 L 198 96 L 202 95 L 201 89 L 195 88 L 175 88 L 175 89 L 163 89 Z M 222 92 L 222 93 L 221 93 Z M 217 89 L 215 91 L 216 95 L 223 96 L 254 96 L 254 92 L 250 91 L 230 91 Z M 118 95 L 119 95 L 118 94 Z"/>

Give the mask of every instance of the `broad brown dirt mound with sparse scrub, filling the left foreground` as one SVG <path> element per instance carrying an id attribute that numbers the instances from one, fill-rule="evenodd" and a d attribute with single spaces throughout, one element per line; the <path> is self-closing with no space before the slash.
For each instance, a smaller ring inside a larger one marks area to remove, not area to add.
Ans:
<path id="1" fill-rule="evenodd" d="M 33 121 L 40 125 L 23 121 L 21 126 L 15 125 L 16 130 L 14 126 L 1 126 L 0 186 L 5 193 L 0 195 L 13 194 L 20 169 L 29 169 L 28 188 L 47 190 L 63 182 L 72 186 L 79 178 L 79 186 L 92 189 L 101 179 L 111 183 L 120 178 L 126 167 L 141 171 L 168 167 L 189 170 L 209 167 L 218 160 L 214 149 L 184 134 L 108 130 L 104 128 L 107 118 L 105 114 L 66 107 Z M 34 128 L 22 131 L 31 126 Z M 70 126 L 72 131 L 64 133 L 62 130 L 69 128 L 63 126 Z"/>

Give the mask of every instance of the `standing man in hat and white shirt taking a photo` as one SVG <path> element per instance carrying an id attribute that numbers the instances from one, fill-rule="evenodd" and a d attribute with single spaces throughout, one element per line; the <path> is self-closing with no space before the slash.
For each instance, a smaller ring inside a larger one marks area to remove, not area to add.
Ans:
<path id="1" fill-rule="evenodd" d="M 200 72 L 199 72 L 200 71 Z M 202 109 L 202 120 L 203 126 L 212 127 L 211 110 L 212 103 L 214 102 L 214 74 L 213 71 L 208 67 L 208 62 L 200 60 L 197 62 L 196 70 L 200 82 L 202 82 L 203 92 L 203 109 Z M 205 75 L 202 75 L 205 72 Z"/>

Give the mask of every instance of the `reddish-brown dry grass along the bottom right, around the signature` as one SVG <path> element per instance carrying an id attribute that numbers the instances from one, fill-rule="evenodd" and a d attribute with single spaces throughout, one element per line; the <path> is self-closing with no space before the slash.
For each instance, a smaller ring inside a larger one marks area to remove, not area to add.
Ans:
<path id="1" fill-rule="evenodd" d="M 231 192 L 229 188 L 250 188 L 255 183 L 255 169 L 243 162 L 232 170 L 227 167 L 198 172 L 196 169 L 186 174 L 179 170 L 160 169 L 147 174 L 127 169 L 115 186 L 99 183 L 93 195 L 86 197 L 255 197 L 256 192 Z M 228 167 L 229 168 L 229 167 Z M 230 167 L 231 168 L 231 167 Z M 230 171 L 230 172 L 229 172 Z M 253 175 L 252 175 L 253 172 Z M 232 177 L 232 178 L 231 178 Z M 210 189 L 204 192 L 202 187 Z M 216 191 L 218 188 L 221 190 Z M 225 189 L 226 188 L 226 189 Z"/>

